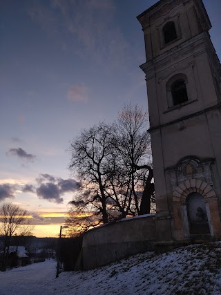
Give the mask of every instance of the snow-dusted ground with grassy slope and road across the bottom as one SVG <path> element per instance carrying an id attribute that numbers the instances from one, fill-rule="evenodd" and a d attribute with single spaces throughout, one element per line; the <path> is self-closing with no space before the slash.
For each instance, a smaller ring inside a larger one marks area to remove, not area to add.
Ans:
<path id="1" fill-rule="evenodd" d="M 221 294 L 221 244 L 192 245 L 166 254 L 138 254 L 87 272 L 63 272 L 46 260 L 0 273 L 1 295 Z"/>

